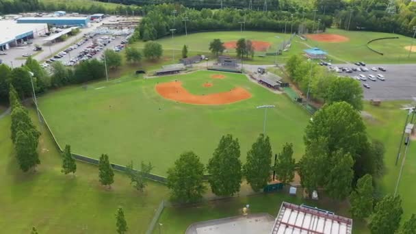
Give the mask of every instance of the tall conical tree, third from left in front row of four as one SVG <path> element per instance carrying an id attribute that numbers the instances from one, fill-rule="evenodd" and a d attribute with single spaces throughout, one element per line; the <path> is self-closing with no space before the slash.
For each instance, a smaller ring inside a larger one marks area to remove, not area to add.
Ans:
<path id="1" fill-rule="evenodd" d="M 252 190 L 258 192 L 270 180 L 270 164 L 272 163 L 272 146 L 269 137 L 259 135 L 247 153 L 247 162 L 243 173 Z"/>

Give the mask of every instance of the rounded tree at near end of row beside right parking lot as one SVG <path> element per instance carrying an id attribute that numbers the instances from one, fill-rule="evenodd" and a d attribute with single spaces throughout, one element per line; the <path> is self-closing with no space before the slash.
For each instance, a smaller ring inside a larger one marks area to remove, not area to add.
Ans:
<path id="1" fill-rule="evenodd" d="M 363 109 L 363 89 L 361 83 L 356 79 L 345 79 L 336 77 L 330 82 L 324 94 L 325 102 L 328 104 L 345 101 L 350 103 L 354 109 Z"/>

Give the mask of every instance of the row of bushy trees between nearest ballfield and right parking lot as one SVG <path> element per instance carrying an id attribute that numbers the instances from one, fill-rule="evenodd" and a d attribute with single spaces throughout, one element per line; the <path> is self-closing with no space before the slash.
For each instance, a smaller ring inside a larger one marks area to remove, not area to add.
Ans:
<path id="1" fill-rule="evenodd" d="M 346 101 L 354 109 L 363 109 L 361 83 L 349 77 L 338 77 L 313 61 L 293 55 L 285 64 L 287 73 L 305 94 L 325 103 Z"/>

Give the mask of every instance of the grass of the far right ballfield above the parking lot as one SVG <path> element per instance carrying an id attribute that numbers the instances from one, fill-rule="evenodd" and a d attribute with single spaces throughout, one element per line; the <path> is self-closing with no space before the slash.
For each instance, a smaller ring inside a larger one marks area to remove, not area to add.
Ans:
<path id="1" fill-rule="evenodd" d="M 408 59 L 408 51 L 404 47 L 412 43 L 412 38 L 398 35 L 372 31 L 345 31 L 341 29 L 328 29 L 326 34 L 339 34 L 350 38 L 348 42 L 328 43 L 307 40 L 313 47 L 320 47 L 334 55 L 349 62 L 364 61 L 371 64 L 409 64 L 416 62 L 416 53 Z M 378 40 L 369 44 L 372 49 L 384 53 L 379 55 L 370 51 L 366 44 L 369 40 L 376 38 L 395 37 L 399 39 Z"/>

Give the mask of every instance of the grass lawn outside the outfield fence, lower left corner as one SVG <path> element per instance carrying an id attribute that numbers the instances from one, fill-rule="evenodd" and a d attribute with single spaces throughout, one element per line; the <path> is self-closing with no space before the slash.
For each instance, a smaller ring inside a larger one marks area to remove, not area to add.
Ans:
<path id="1" fill-rule="evenodd" d="M 36 114 L 31 112 L 37 123 Z M 112 190 L 99 185 L 98 168 L 77 164 L 76 177 L 64 175 L 61 158 L 50 135 L 42 131 L 38 171 L 18 168 L 10 141 L 10 116 L 0 119 L 1 233 L 115 233 L 114 213 L 125 210 L 131 233 L 144 233 L 160 201 L 168 197 L 164 185 L 149 182 L 135 192 L 130 180 L 116 172 Z"/>

